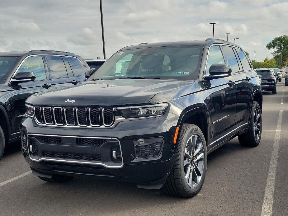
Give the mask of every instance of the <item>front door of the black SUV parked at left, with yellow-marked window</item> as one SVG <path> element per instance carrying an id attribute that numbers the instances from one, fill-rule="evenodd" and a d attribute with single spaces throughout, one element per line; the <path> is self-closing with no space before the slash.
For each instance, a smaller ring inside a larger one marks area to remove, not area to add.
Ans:
<path id="1" fill-rule="evenodd" d="M 20 71 L 30 71 L 35 73 L 35 81 L 21 82 L 18 84 L 9 84 L 12 89 L 13 103 L 14 103 L 14 132 L 19 132 L 19 125 L 25 114 L 26 99 L 37 92 L 48 92 L 53 90 L 52 81 L 49 74 L 45 70 L 43 56 L 28 57 L 20 65 L 17 73 Z M 12 77 L 13 79 L 13 77 Z"/>

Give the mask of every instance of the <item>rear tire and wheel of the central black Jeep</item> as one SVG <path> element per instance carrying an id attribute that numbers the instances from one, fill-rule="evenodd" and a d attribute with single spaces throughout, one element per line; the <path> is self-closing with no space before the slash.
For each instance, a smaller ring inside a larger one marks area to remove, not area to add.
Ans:
<path id="1" fill-rule="evenodd" d="M 259 114 L 258 119 L 256 119 L 256 117 L 258 116 L 257 113 Z M 255 133 L 257 133 L 257 135 L 255 135 Z M 262 135 L 262 113 L 259 104 L 256 101 L 253 101 L 252 109 L 250 112 L 250 123 L 248 131 L 245 134 L 238 135 L 238 140 L 242 146 L 256 147 L 260 143 L 261 135 Z"/>

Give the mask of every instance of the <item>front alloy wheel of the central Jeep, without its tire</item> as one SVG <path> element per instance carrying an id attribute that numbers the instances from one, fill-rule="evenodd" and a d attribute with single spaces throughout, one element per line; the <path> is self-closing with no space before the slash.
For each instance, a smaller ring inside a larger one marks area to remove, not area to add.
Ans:
<path id="1" fill-rule="evenodd" d="M 187 141 L 184 152 L 184 175 L 187 184 L 195 188 L 201 181 L 204 170 L 205 154 L 201 138 L 193 134 Z"/>

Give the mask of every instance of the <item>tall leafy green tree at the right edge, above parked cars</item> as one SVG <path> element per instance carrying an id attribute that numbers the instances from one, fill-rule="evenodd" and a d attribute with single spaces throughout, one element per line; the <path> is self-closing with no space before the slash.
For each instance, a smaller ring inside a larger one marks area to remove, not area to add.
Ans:
<path id="1" fill-rule="evenodd" d="M 277 67 L 281 68 L 281 64 L 288 59 L 288 35 L 282 35 L 274 38 L 266 46 L 268 50 L 275 49 L 272 53 L 276 61 Z M 281 62 L 282 53 L 282 62 Z"/>

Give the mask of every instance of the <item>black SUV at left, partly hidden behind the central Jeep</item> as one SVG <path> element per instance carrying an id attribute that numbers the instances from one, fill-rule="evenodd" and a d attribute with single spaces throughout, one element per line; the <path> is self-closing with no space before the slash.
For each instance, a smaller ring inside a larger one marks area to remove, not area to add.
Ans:
<path id="1" fill-rule="evenodd" d="M 0 52 L 0 159 L 5 144 L 20 139 L 26 99 L 75 86 L 85 80 L 87 69 L 82 57 L 68 52 Z"/>

